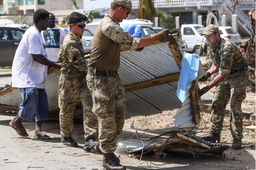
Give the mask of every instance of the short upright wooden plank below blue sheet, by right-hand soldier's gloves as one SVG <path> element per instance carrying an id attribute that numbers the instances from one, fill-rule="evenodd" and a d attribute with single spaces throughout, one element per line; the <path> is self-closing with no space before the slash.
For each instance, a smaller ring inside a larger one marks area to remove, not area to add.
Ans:
<path id="1" fill-rule="evenodd" d="M 199 123 L 201 118 L 197 86 L 198 86 L 197 81 L 192 80 L 189 93 L 190 93 L 190 99 L 191 99 L 191 105 L 192 105 L 193 120 L 195 125 Z"/>

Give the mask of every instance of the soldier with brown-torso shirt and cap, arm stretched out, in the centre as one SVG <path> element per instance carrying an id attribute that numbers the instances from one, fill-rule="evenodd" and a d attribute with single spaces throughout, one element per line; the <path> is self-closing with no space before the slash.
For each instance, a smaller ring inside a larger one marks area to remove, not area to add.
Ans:
<path id="1" fill-rule="evenodd" d="M 146 38 L 134 38 L 124 32 L 119 22 L 130 13 L 134 14 L 130 0 L 112 1 L 109 13 L 95 31 L 86 76 L 92 94 L 92 111 L 98 116 L 100 128 L 100 142 L 95 149 L 103 153 L 103 167 L 109 170 L 125 169 L 114 154 L 126 114 L 124 86 L 117 72 L 121 45 L 136 50 L 156 40 L 174 41 L 169 30 Z"/>

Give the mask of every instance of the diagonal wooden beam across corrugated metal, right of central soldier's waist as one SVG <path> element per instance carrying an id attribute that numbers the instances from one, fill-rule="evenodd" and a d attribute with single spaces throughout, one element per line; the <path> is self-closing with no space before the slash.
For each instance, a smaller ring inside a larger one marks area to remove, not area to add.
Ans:
<path id="1" fill-rule="evenodd" d="M 147 87 L 153 87 L 153 86 L 156 86 L 156 85 L 162 85 L 162 84 L 165 84 L 165 83 L 178 81 L 179 77 L 180 77 L 180 73 L 177 73 L 177 74 L 174 74 L 174 75 L 168 75 L 166 77 L 161 77 L 161 78 L 149 80 L 149 81 L 145 81 L 145 82 L 142 82 L 142 83 L 127 85 L 127 86 L 124 86 L 124 91 L 125 92 L 134 91 L 134 90 L 144 89 L 144 88 L 147 88 Z"/>

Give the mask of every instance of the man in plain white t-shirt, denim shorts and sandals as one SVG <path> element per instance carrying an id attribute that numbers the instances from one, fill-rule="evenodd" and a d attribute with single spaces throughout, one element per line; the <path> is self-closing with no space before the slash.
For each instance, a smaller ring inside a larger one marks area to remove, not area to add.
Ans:
<path id="1" fill-rule="evenodd" d="M 28 136 L 22 119 L 32 121 L 35 116 L 36 127 L 32 138 L 48 140 L 51 138 L 41 131 L 42 122 L 48 119 L 48 101 L 44 84 L 48 66 L 61 68 L 61 63 L 47 59 L 40 34 L 48 26 L 49 12 L 43 9 L 36 10 L 33 20 L 34 25 L 23 35 L 12 63 L 12 87 L 20 88 L 23 101 L 18 115 L 9 125 L 20 136 Z"/>

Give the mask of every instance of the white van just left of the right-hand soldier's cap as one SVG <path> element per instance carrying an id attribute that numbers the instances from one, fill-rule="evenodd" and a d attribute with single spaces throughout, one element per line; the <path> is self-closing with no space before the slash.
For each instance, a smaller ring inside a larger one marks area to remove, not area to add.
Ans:
<path id="1" fill-rule="evenodd" d="M 204 26 L 199 24 L 183 24 L 181 26 L 182 41 L 185 45 L 184 51 L 198 53 L 203 37 L 200 36 L 204 32 Z M 199 55 L 203 53 L 204 42 Z"/>

